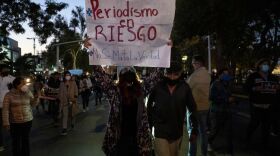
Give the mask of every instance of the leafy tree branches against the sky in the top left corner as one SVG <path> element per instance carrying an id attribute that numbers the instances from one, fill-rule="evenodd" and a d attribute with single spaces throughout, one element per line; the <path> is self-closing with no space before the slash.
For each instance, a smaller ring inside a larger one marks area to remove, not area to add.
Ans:
<path id="1" fill-rule="evenodd" d="M 45 9 L 40 4 L 30 0 L 1 0 L 0 1 L 0 35 L 8 36 L 9 32 L 24 33 L 23 23 L 33 28 L 41 43 L 46 43 L 48 37 L 54 33 L 54 23 L 51 20 L 59 11 L 67 7 L 66 3 L 45 1 Z"/>

